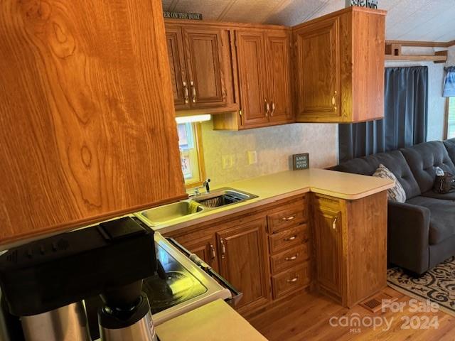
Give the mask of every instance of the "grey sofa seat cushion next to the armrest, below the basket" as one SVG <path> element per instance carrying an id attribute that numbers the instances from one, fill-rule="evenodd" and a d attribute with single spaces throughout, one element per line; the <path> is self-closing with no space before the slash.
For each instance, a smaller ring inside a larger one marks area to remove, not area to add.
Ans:
<path id="1" fill-rule="evenodd" d="M 429 209 L 429 244 L 439 244 L 455 235 L 455 202 L 419 195 L 407 203 Z"/>

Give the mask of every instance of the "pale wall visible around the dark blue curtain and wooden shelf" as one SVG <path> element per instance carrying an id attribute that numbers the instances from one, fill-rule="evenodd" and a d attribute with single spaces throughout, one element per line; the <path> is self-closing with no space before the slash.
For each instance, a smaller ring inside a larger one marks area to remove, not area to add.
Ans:
<path id="1" fill-rule="evenodd" d="M 403 54 L 432 54 L 433 48 L 403 48 Z M 444 139 L 446 99 L 442 97 L 444 64 L 433 62 L 386 62 L 385 67 L 428 66 L 428 141 Z"/>

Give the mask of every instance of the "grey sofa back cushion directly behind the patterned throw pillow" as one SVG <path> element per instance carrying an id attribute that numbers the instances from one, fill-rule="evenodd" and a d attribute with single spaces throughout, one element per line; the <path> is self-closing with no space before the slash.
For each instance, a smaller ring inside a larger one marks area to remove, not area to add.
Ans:
<path id="1" fill-rule="evenodd" d="M 353 160 L 343 162 L 331 169 L 338 172 L 373 175 L 380 163 L 389 168 L 397 180 L 400 181 L 407 198 L 420 195 L 419 185 L 400 151 L 389 151 L 363 158 L 353 158 Z"/>

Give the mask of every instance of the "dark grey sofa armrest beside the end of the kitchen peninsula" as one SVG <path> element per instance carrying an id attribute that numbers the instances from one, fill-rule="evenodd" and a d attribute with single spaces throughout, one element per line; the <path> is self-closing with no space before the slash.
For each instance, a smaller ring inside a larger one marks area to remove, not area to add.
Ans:
<path id="1" fill-rule="evenodd" d="M 388 203 L 388 261 L 415 274 L 429 268 L 429 217 L 427 207 L 401 202 Z"/>

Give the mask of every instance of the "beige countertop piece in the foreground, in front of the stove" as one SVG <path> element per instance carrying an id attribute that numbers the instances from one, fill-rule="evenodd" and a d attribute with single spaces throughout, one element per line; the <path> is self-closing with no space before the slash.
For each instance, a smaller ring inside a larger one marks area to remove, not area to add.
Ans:
<path id="1" fill-rule="evenodd" d="M 156 326 L 161 341 L 267 341 L 234 309 L 218 300 Z"/>

